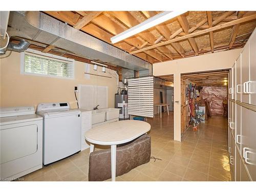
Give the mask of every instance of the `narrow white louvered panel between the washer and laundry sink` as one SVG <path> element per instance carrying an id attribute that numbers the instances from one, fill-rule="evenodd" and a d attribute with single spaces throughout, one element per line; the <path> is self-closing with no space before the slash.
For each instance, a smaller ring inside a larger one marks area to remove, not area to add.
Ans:
<path id="1" fill-rule="evenodd" d="M 81 151 L 90 147 L 90 143 L 87 143 L 84 135 L 87 131 L 92 129 L 92 111 L 81 112 Z"/>

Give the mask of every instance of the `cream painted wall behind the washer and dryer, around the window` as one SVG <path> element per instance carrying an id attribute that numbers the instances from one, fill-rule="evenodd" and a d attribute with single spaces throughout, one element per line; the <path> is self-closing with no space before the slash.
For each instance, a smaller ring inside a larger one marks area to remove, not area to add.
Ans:
<path id="1" fill-rule="evenodd" d="M 90 66 L 90 72 L 93 66 Z M 112 70 L 101 75 L 113 74 L 112 78 L 85 75 L 86 64 L 75 61 L 74 79 L 26 75 L 20 73 L 20 53 L 7 52 L 0 57 L 1 70 L 1 105 L 0 106 L 36 106 L 40 102 L 65 102 L 71 108 L 77 108 L 74 87 L 78 84 L 91 84 L 108 87 L 108 107 L 114 108 L 115 93 L 117 92 L 117 78 Z"/>

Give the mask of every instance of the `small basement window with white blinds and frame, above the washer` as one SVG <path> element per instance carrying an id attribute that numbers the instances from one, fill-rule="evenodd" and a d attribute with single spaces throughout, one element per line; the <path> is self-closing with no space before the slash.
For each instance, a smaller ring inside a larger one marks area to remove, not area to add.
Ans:
<path id="1" fill-rule="evenodd" d="M 22 53 L 22 74 L 74 78 L 74 60 L 28 49 Z"/>

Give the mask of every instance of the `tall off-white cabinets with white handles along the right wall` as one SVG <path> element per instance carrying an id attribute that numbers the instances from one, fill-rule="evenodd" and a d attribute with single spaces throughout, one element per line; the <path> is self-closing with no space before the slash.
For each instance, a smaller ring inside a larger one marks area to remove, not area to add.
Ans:
<path id="1" fill-rule="evenodd" d="M 229 71 L 228 150 L 236 181 L 256 181 L 256 31 Z"/>

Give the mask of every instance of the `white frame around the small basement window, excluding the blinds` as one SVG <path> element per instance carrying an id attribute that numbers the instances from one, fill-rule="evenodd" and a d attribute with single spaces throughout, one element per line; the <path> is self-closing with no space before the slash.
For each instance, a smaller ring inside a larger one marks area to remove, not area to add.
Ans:
<path id="1" fill-rule="evenodd" d="M 55 76 L 55 75 L 49 75 L 49 74 L 39 74 L 39 73 L 29 73 L 29 72 L 25 72 L 25 54 L 26 52 L 30 53 L 30 54 L 36 54 L 38 55 L 38 57 L 49 57 L 49 59 L 53 58 L 57 59 L 57 60 L 65 60 L 65 61 L 69 61 L 72 63 L 72 69 L 73 69 L 73 76 L 72 77 L 61 77 L 61 76 Z M 25 52 L 22 52 L 20 54 L 20 74 L 23 75 L 34 75 L 34 76 L 40 76 L 40 77 L 53 77 L 53 78 L 60 78 L 60 79 L 75 79 L 75 60 L 74 59 L 70 59 L 70 58 L 66 58 L 66 57 L 62 57 L 62 56 L 58 56 L 58 55 L 53 55 L 50 53 L 42 53 L 40 51 L 37 50 L 33 50 L 33 49 L 27 49 Z"/>

